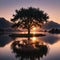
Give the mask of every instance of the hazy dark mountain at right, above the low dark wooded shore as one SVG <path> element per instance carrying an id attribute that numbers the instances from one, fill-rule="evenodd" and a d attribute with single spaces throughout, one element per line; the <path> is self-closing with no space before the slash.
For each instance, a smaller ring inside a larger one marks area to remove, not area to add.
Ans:
<path id="1" fill-rule="evenodd" d="M 60 29 L 60 24 L 58 24 L 56 22 L 53 22 L 53 21 L 50 21 L 43 26 L 43 29 L 48 29 L 49 30 L 49 29 L 52 29 L 52 28 Z"/>

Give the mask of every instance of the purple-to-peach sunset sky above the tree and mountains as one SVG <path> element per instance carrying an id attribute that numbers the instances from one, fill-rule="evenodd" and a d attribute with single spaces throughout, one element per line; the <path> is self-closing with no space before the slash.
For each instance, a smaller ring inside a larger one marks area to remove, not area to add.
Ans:
<path id="1" fill-rule="evenodd" d="M 49 15 L 49 20 L 60 24 L 60 0 L 0 0 L 0 17 L 11 20 L 16 9 L 35 7 Z"/>

